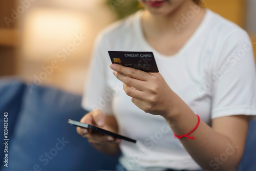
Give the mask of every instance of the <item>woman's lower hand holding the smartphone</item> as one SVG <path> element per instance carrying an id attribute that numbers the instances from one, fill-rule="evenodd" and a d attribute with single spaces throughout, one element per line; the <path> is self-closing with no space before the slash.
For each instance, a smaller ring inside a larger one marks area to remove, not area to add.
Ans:
<path id="1" fill-rule="evenodd" d="M 84 115 L 80 122 L 87 123 L 90 125 L 95 125 L 101 129 L 112 131 L 110 125 L 106 124 L 106 117 L 100 110 L 93 110 L 88 114 Z M 92 144 L 103 145 L 103 144 L 116 144 L 120 143 L 121 139 L 114 138 L 112 136 L 103 135 L 100 133 L 92 132 L 90 129 L 84 129 L 82 127 L 77 127 L 76 131 L 82 137 L 87 138 L 88 141 Z"/>

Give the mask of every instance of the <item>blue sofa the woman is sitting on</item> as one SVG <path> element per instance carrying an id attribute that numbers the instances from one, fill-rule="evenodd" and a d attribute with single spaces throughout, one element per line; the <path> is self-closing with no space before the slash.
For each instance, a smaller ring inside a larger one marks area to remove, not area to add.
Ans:
<path id="1" fill-rule="evenodd" d="M 0 139 L 2 171 L 115 170 L 118 156 L 97 152 L 76 133 L 68 119 L 87 113 L 81 96 L 54 88 L 32 86 L 15 78 L 0 79 L 0 134 L 8 113 L 8 167 L 4 166 L 4 139 Z M 3 137 L 3 136 L 1 136 Z M 250 122 L 239 171 L 256 170 L 256 121 Z"/>

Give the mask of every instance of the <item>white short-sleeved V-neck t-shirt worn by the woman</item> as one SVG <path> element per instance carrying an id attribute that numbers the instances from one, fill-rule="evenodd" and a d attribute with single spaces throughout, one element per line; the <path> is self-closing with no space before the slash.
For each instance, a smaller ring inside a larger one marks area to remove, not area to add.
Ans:
<path id="1" fill-rule="evenodd" d="M 82 98 L 86 110 L 113 114 L 122 141 L 119 161 L 128 170 L 200 169 L 161 116 L 144 113 L 127 96 L 110 69 L 108 51 L 151 51 L 169 87 L 207 124 L 230 115 L 256 115 L 256 75 L 247 33 L 207 9 L 186 44 L 165 56 L 148 44 L 141 27 L 142 11 L 99 34 Z"/>

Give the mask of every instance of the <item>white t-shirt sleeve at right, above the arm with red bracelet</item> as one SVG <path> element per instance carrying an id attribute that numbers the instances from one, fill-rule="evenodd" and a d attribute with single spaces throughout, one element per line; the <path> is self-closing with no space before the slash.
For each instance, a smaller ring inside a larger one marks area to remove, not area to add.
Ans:
<path id="1" fill-rule="evenodd" d="M 223 41 L 222 41 L 223 40 Z M 230 32 L 217 42 L 210 83 L 211 118 L 256 115 L 256 72 L 253 48 L 243 30 Z"/>

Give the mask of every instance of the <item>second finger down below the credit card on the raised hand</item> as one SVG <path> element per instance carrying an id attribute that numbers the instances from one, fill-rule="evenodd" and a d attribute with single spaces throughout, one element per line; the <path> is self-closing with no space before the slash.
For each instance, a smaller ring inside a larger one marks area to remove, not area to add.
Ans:
<path id="1" fill-rule="evenodd" d="M 115 72 L 113 71 L 113 74 L 116 76 L 117 79 L 119 79 L 120 81 L 122 81 L 123 83 L 125 83 L 127 86 L 136 88 L 138 90 L 143 91 L 145 88 L 143 87 L 143 84 L 145 83 L 145 81 L 141 81 L 132 77 L 129 77 L 127 75 L 123 75 L 121 73 Z"/>

